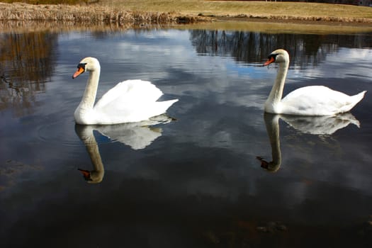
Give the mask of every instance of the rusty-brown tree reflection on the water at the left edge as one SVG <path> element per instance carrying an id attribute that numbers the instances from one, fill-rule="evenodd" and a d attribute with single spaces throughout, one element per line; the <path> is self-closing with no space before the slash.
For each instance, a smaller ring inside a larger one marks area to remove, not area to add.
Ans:
<path id="1" fill-rule="evenodd" d="M 35 95 L 45 92 L 54 70 L 57 33 L 0 35 L 0 110 L 16 116 L 33 113 Z"/>

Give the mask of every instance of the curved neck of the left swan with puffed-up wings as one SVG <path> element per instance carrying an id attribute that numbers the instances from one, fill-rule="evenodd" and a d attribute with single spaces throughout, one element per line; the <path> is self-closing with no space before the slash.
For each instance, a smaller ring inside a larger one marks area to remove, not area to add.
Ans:
<path id="1" fill-rule="evenodd" d="M 89 78 L 88 81 L 86 81 L 84 95 L 83 98 L 81 98 L 79 108 L 83 109 L 93 108 L 94 101 L 96 101 L 100 73 L 101 73 L 100 67 L 96 67 L 94 71 L 89 72 Z"/>

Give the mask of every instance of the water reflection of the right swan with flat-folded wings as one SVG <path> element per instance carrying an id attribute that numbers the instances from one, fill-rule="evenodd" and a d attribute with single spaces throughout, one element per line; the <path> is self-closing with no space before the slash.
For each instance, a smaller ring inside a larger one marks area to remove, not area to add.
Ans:
<path id="1" fill-rule="evenodd" d="M 261 167 L 267 171 L 276 172 L 281 167 L 281 143 L 279 140 L 279 118 L 288 125 L 301 133 L 312 135 L 332 135 L 339 129 L 345 128 L 349 124 L 354 124 L 358 128 L 359 120 L 356 120 L 351 113 L 325 116 L 301 116 L 301 115 L 280 115 L 264 113 L 266 131 L 269 135 L 271 145 L 272 161 L 267 162 L 262 157 L 257 157 L 261 162 Z"/>

